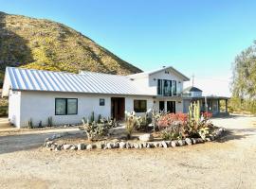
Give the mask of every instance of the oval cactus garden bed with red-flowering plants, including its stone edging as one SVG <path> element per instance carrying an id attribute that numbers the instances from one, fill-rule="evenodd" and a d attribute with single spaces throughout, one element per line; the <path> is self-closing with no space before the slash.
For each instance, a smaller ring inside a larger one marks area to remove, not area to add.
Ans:
<path id="1" fill-rule="evenodd" d="M 214 141 L 224 128 L 213 126 L 211 113 L 200 112 L 198 102 L 189 113 L 166 113 L 149 110 L 142 116 L 126 112 L 123 123 L 102 118 L 82 118 L 81 132 L 56 134 L 46 138 L 49 150 L 93 150 L 114 148 L 155 148 L 191 146 Z"/>

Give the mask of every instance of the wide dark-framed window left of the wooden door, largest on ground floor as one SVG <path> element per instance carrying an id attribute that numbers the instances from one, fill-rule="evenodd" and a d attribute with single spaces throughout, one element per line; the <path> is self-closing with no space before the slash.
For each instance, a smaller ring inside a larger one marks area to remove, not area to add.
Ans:
<path id="1" fill-rule="evenodd" d="M 71 115 L 78 114 L 77 98 L 55 98 L 55 114 Z"/>

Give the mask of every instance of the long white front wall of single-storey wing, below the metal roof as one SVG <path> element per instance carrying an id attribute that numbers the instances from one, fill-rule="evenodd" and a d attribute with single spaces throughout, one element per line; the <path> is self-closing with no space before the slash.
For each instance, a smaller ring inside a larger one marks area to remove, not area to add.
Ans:
<path id="1" fill-rule="evenodd" d="M 99 114 L 103 117 L 111 116 L 111 97 L 125 97 L 125 110 L 134 111 L 134 99 L 147 100 L 147 109 L 153 107 L 151 96 L 125 96 L 109 94 L 76 94 L 76 93 L 52 93 L 52 92 L 21 92 L 20 103 L 20 126 L 27 127 L 31 118 L 33 125 L 38 126 L 42 121 L 47 125 L 48 117 L 52 117 L 54 125 L 79 124 L 82 117 L 89 117 L 91 112 L 95 113 L 97 119 Z M 55 98 L 78 98 L 78 114 L 75 115 L 55 115 Z M 105 106 L 100 106 L 100 98 L 105 99 Z M 12 102 L 10 102 L 12 104 Z M 13 104 L 16 104 L 13 101 Z M 19 106 L 15 105 L 16 108 Z M 18 109 L 16 109 L 18 110 Z M 10 111 L 10 114 L 19 114 L 19 111 Z M 139 113 L 138 113 L 139 114 Z M 15 124 L 18 126 L 18 124 Z"/>

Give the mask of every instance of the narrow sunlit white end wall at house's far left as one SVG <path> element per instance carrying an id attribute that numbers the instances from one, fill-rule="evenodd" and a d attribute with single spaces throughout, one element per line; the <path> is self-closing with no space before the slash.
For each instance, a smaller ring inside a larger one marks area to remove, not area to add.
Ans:
<path id="1" fill-rule="evenodd" d="M 9 122 L 20 127 L 21 92 L 9 91 Z"/>

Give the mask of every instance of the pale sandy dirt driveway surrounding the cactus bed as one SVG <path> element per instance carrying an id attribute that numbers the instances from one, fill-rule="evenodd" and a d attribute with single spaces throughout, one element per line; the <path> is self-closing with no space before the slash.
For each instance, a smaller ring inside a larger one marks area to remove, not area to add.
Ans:
<path id="1" fill-rule="evenodd" d="M 256 188 L 256 117 L 213 123 L 221 140 L 167 149 L 52 152 L 41 142 L 64 129 L 5 132 L 0 188 Z"/>

